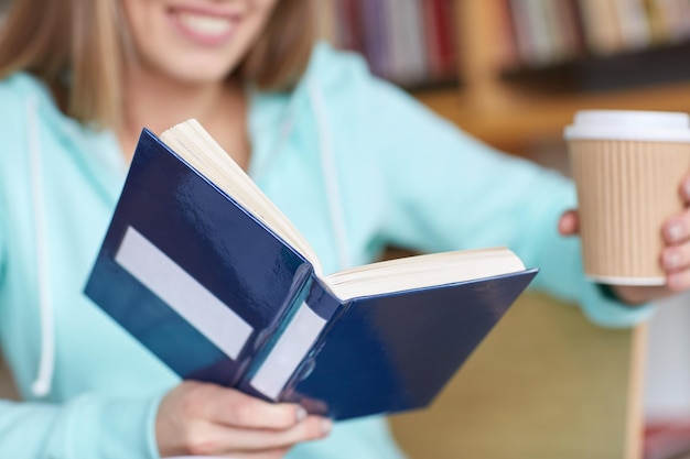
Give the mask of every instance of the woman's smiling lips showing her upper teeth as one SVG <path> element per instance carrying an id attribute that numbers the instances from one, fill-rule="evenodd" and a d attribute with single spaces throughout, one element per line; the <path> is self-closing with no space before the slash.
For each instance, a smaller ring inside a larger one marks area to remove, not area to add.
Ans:
<path id="1" fill-rule="evenodd" d="M 238 23 L 237 18 L 230 15 L 188 10 L 173 10 L 171 13 L 177 30 L 188 40 L 202 45 L 224 44 Z"/>

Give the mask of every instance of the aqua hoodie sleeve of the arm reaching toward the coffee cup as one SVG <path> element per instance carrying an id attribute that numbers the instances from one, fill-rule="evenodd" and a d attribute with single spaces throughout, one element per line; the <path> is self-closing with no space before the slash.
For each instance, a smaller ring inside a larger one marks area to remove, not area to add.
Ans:
<path id="1" fill-rule="evenodd" d="M 578 303 L 596 324 L 625 327 L 651 315 L 651 306 L 625 306 L 585 278 L 579 239 L 558 232 L 561 214 L 576 207 L 570 179 L 472 138 L 371 77 L 357 57 L 336 58 L 325 46 L 321 54 L 324 94 L 335 94 L 335 107 L 347 100 L 334 124 L 342 117 L 337 125 L 351 131 L 341 135 L 366 139 L 365 161 L 381 171 L 382 238 L 421 251 L 507 245 L 540 269 L 533 287 Z M 359 199 L 366 206 L 367 193 Z"/>

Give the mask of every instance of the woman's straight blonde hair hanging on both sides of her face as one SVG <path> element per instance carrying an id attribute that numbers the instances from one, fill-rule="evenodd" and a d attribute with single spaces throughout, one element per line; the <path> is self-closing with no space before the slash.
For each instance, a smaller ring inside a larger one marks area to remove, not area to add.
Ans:
<path id="1" fill-rule="evenodd" d="M 0 28 L 0 78 L 29 72 L 51 88 L 67 116 L 117 125 L 126 43 L 117 2 L 13 0 Z M 292 88 L 309 61 L 311 22 L 309 0 L 278 0 L 238 75 L 263 90 Z"/>

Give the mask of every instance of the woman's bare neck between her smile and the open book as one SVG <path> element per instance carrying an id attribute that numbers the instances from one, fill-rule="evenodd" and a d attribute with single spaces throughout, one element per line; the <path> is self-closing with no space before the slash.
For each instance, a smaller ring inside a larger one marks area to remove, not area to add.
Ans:
<path id="1" fill-rule="evenodd" d="M 246 108 L 241 86 L 234 80 L 183 84 L 141 69 L 125 77 L 123 119 L 118 132 L 122 153 L 131 157 L 142 128 L 155 134 L 196 118 L 228 151 L 246 165 L 247 153 L 236 152 L 238 136 L 246 142 Z M 229 150 L 231 147 L 233 150 Z M 244 160 L 244 161 L 242 161 Z"/>

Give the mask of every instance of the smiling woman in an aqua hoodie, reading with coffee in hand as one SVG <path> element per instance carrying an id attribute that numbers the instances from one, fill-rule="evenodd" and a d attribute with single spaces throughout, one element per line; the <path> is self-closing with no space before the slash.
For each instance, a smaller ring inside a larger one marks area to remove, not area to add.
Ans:
<path id="1" fill-rule="evenodd" d="M 459 132 L 359 58 L 312 50 L 306 3 L 15 1 L 0 36 L 0 343 L 24 401 L 0 402 L 0 457 L 401 457 L 380 418 L 331 431 L 293 405 L 180 382 L 84 296 L 142 127 L 198 119 L 325 272 L 387 244 L 505 244 L 541 267 L 535 286 L 611 326 L 651 312 L 616 295 L 690 285 L 687 215 L 671 221 L 668 289 L 585 281 L 556 230 L 576 230 L 575 214 L 559 222 L 569 182 Z"/>

